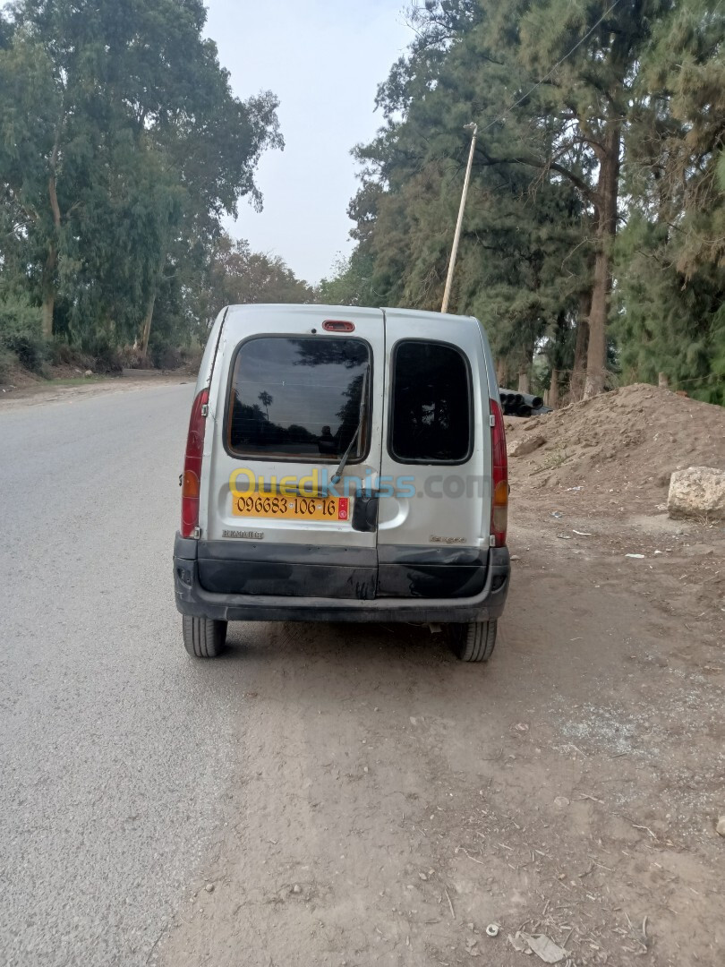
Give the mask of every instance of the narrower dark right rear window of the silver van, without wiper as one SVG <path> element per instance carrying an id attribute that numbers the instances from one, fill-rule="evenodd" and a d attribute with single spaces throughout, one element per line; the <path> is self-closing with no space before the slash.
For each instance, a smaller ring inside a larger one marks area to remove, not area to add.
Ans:
<path id="1" fill-rule="evenodd" d="M 461 463 L 471 454 L 471 377 L 442 342 L 398 342 L 392 361 L 391 456 L 403 463 Z"/>

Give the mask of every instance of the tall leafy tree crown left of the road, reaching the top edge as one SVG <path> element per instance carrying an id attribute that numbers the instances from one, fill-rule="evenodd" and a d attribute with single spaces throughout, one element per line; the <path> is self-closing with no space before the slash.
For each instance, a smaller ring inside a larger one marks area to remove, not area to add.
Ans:
<path id="1" fill-rule="evenodd" d="M 241 197 L 260 202 L 254 168 L 281 146 L 275 98 L 233 97 L 202 37 L 201 0 L 17 0 L 11 11 L 0 184 L 22 216 L 14 244 L 33 256 L 44 330 L 59 294 L 75 315 L 118 312 L 125 277 L 124 314 L 145 349 L 172 249 L 211 239 Z"/>

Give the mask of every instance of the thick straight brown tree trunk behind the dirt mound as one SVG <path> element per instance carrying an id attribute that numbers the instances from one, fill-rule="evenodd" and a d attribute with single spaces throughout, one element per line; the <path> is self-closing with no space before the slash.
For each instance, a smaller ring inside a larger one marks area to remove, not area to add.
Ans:
<path id="1" fill-rule="evenodd" d="M 596 396 L 604 389 L 607 372 L 607 315 L 612 287 L 612 242 L 617 232 L 617 198 L 620 182 L 621 127 L 610 121 L 604 135 L 599 178 L 596 186 L 596 251 L 592 308 L 589 312 L 589 347 L 584 396 Z"/>

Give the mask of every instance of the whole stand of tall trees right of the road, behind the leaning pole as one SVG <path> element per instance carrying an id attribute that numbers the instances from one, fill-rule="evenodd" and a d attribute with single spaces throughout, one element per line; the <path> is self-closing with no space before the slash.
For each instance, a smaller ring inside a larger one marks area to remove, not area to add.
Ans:
<path id="1" fill-rule="evenodd" d="M 725 403 L 718 0 L 425 0 L 355 150 L 357 248 L 322 293 L 451 311 L 552 405 L 631 382 Z"/>

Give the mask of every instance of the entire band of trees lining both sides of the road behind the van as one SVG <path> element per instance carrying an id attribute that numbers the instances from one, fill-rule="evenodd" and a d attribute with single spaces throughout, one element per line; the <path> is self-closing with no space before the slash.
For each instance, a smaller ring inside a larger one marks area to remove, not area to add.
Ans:
<path id="1" fill-rule="evenodd" d="M 403 2 L 403 0 L 401 0 Z M 0 382 L 17 366 L 170 368 L 230 302 L 450 310 L 501 385 L 632 382 L 725 403 L 725 11 L 718 0 L 416 0 L 415 40 L 355 149 L 356 247 L 316 288 L 231 238 L 281 150 L 203 0 L 0 9 Z M 65 369 L 64 369 L 65 367 Z"/>

